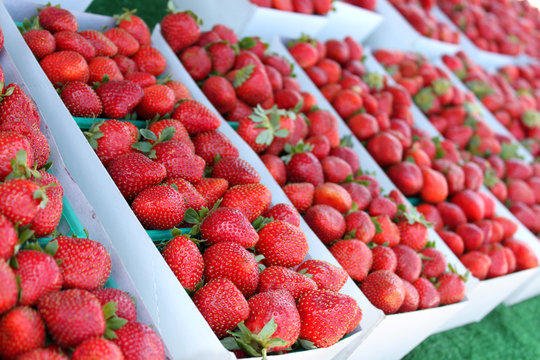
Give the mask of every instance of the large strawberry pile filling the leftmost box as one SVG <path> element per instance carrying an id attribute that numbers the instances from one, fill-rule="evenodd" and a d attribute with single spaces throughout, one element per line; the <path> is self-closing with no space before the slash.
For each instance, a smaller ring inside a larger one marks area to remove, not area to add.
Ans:
<path id="1" fill-rule="evenodd" d="M 0 357 L 164 359 L 130 296 L 103 287 L 111 272 L 103 245 L 56 232 L 63 189 L 45 171 L 39 114 L 18 85 L 4 87 L 1 68 L 0 79 Z M 37 238 L 46 236 L 54 239 L 43 249 Z"/>

